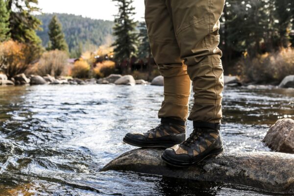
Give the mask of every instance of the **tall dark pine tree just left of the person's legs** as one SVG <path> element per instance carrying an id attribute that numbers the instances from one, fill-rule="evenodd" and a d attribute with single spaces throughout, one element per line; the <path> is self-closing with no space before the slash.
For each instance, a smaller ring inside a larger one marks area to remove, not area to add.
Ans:
<path id="1" fill-rule="evenodd" d="M 114 46 L 115 59 L 118 62 L 127 61 L 126 70 L 123 72 L 129 72 L 131 67 L 131 56 L 136 53 L 137 47 L 137 33 L 135 28 L 137 22 L 134 21 L 134 7 L 132 6 L 133 0 L 113 0 L 117 1 L 119 8 L 118 15 L 115 16 L 115 27 L 113 35 L 116 40 L 112 46 Z"/>

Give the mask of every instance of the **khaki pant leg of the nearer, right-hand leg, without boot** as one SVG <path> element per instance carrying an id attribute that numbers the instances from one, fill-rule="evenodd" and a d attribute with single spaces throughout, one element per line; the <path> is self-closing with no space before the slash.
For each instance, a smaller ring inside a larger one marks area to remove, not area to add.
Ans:
<path id="1" fill-rule="evenodd" d="M 166 0 L 195 103 L 189 120 L 220 123 L 223 70 L 219 28 L 224 0 Z"/>

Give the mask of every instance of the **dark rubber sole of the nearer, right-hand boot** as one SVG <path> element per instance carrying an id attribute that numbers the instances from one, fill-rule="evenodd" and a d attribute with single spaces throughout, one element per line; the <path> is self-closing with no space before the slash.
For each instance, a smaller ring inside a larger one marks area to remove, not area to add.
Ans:
<path id="1" fill-rule="evenodd" d="M 169 164 L 169 165 L 172 165 L 172 166 L 175 166 L 175 167 L 189 167 L 189 166 L 193 166 L 193 165 L 196 165 L 198 163 L 200 163 L 201 161 L 203 161 L 204 159 L 208 158 L 208 157 L 217 157 L 219 154 L 223 153 L 224 152 L 224 149 L 223 147 L 221 148 L 217 148 L 215 150 L 212 150 L 210 151 L 207 155 L 205 155 L 204 157 L 200 158 L 200 160 L 196 160 L 194 162 L 191 162 L 191 163 L 184 163 L 184 162 L 177 162 L 175 160 L 172 160 L 168 157 L 165 156 L 165 154 L 163 153 L 161 155 L 161 159 Z"/>

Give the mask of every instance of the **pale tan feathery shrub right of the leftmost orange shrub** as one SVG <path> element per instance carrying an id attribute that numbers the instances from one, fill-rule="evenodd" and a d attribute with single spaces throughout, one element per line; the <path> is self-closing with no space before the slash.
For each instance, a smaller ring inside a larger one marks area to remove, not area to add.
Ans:
<path id="1" fill-rule="evenodd" d="M 44 52 L 39 62 L 35 65 L 36 74 L 59 76 L 65 71 L 68 64 L 68 53 L 60 50 Z"/>

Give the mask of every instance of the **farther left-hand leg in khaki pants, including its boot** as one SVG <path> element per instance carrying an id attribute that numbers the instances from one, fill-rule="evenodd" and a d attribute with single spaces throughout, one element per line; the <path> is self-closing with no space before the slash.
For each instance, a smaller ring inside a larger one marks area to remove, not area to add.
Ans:
<path id="1" fill-rule="evenodd" d="M 191 80 L 180 59 L 172 17 L 165 0 L 145 0 L 148 36 L 153 57 L 164 77 L 161 124 L 144 134 L 128 133 L 123 141 L 138 147 L 172 147 L 185 140 Z"/>

